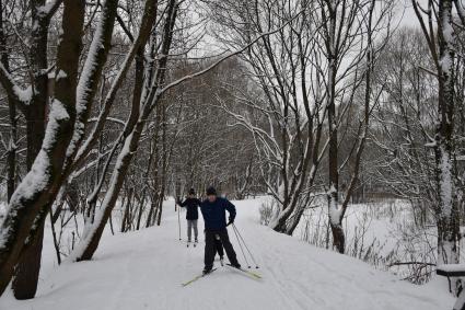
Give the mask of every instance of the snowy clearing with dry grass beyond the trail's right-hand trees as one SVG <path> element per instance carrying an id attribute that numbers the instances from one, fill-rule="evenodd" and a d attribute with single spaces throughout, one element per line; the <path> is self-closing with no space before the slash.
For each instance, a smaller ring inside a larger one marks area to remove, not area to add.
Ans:
<path id="1" fill-rule="evenodd" d="M 327 238 L 332 237 L 327 221 L 327 202 L 322 199 L 314 204 L 321 207 L 310 208 L 304 213 L 294 237 L 326 249 L 332 244 L 332 241 L 327 242 Z M 435 226 L 433 221 L 425 226 L 416 223 L 409 202 L 385 199 L 352 204 L 347 209 L 342 225 L 346 233 L 346 254 L 349 256 L 416 284 L 428 282 L 430 274 L 434 273 L 432 266 L 421 265 L 421 262 L 435 264 Z M 419 263 L 397 265 L 398 262 Z"/>

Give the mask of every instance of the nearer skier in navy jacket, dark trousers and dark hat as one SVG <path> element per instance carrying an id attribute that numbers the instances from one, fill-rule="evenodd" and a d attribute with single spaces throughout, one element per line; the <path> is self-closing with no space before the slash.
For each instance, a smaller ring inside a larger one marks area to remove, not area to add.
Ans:
<path id="1" fill-rule="evenodd" d="M 204 274 L 213 268 L 214 254 L 217 253 L 216 239 L 219 238 L 224 246 L 228 259 L 233 267 L 240 268 L 234 249 L 230 242 L 226 226 L 234 222 L 235 207 L 228 199 L 217 196 L 214 187 L 207 190 L 207 199 L 200 205 L 205 221 L 205 268 Z M 230 214 L 226 223 L 225 211 Z"/>

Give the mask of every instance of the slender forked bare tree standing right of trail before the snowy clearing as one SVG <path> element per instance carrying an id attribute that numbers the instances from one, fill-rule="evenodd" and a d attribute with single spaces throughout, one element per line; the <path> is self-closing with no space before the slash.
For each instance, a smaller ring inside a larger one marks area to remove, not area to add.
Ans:
<path id="1" fill-rule="evenodd" d="M 375 15 L 375 11 L 380 11 Z M 376 39 L 386 41 L 390 33 L 393 2 L 376 3 L 376 1 L 319 1 L 321 14 L 315 14 L 314 19 L 321 20 L 321 37 L 324 44 L 323 55 L 326 72 L 326 105 L 327 127 L 329 135 L 328 146 L 328 214 L 333 232 L 333 242 L 336 249 L 345 252 L 345 236 L 342 229 L 342 218 L 345 216 L 348 202 L 358 180 L 361 154 L 369 129 L 369 118 L 372 111 L 373 97 L 371 91 L 371 72 L 377 57 L 377 51 L 384 46 L 383 42 L 376 43 L 379 48 L 374 48 Z M 385 33 L 385 37 L 376 37 L 380 33 Z M 357 46 L 357 47 L 356 47 Z M 352 49 L 357 48 L 353 53 Z M 347 60 L 347 59 L 350 60 Z M 348 61 L 348 64 L 344 64 Z M 364 65 L 362 65 L 364 62 Z M 360 68 L 361 67 L 361 68 Z M 349 82 L 350 81 L 350 82 Z M 349 152 L 349 158 L 340 161 L 338 127 L 346 111 L 353 103 L 353 92 L 362 84 L 365 95 L 361 104 L 363 107 L 362 120 L 359 137 L 356 140 L 357 147 L 353 152 Z M 374 96 L 375 97 L 375 96 Z M 337 111 L 337 105 L 341 106 Z M 342 204 L 339 206 L 339 174 L 345 168 L 345 163 L 354 157 L 354 169 L 351 180 L 345 193 Z"/>

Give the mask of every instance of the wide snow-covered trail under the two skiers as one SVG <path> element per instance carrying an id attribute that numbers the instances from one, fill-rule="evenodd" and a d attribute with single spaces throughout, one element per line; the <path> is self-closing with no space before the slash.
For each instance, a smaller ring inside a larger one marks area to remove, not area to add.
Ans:
<path id="1" fill-rule="evenodd" d="M 396 280 L 360 261 L 259 226 L 259 199 L 237 202 L 236 227 L 256 255 L 261 280 L 220 267 L 182 287 L 200 273 L 204 244 L 186 248 L 178 241 L 177 216 L 170 204 L 161 227 L 106 236 L 94 261 L 68 263 L 47 273 L 34 300 L 16 301 L 9 291 L 0 299 L 0 309 L 452 308 L 453 298 L 444 289 Z M 183 215 L 183 236 L 184 226 Z M 230 238 L 245 266 L 231 229 Z"/>

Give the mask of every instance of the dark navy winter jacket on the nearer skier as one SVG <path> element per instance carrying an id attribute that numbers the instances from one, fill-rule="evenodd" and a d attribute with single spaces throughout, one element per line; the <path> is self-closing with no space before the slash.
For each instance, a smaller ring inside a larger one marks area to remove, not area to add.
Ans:
<path id="1" fill-rule="evenodd" d="M 222 230 L 226 227 L 226 214 L 230 214 L 230 219 L 235 218 L 235 207 L 228 199 L 218 197 L 214 203 L 208 199 L 200 205 L 201 215 L 204 216 L 205 229 Z"/>

